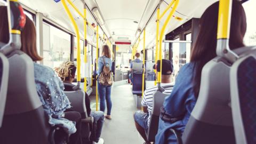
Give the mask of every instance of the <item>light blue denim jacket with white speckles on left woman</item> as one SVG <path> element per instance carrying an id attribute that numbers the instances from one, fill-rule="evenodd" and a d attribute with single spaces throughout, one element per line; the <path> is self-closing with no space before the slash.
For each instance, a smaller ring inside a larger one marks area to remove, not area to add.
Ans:
<path id="1" fill-rule="evenodd" d="M 49 123 L 61 126 L 69 133 L 75 133 L 75 122 L 62 118 L 64 111 L 70 108 L 68 97 L 63 92 L 64 85 L 61 79 L 55 75 L 53 69 L 34 63 L 36 90 L 43 108 L 49 116 Z"/>

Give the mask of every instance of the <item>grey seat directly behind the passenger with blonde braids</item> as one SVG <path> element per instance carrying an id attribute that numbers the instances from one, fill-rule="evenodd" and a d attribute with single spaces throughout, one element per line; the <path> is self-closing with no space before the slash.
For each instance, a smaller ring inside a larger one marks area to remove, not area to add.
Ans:
<path id="1" fill-rule="evenodd" d="M 66 86 L 73 87 L 73 84 L 63 83 Z M 91 130 L 90 125 L 93 126 L 93 117 L 88 117 L 85 106 L 85 93 L 81 89 L 74 91 L 64 91 L 67 95 L 71 109 L 81 113 L 82 116 L 82 138 L 85 140 L 90 139 Z"/>

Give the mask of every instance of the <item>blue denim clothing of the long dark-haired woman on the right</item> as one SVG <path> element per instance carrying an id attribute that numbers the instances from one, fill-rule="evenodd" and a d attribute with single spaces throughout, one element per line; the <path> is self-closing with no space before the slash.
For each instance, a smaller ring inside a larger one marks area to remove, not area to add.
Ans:
<path id="1" fill-rule="evenodd" d="M 177 143 L 175 136 L 167 132 L 170 128 L 183 133 L 191 112 L 196 104 L 193 91 L 193 76 L 195 75 L 194 63 L 187 63 L 179 72 L 172 93 L 164 100 L 164 109 L 173 117 L 183 117 L 175 123 L 164 122 L 159 119 L 156 143 Z M 165 141 L 167 140 L 167 142 Z"/>

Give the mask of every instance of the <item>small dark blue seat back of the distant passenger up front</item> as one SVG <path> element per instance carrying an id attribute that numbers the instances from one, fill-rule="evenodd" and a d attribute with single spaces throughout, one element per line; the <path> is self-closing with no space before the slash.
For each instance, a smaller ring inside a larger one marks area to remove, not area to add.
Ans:
<path id="1" fill-rule="evenodd" d="M 142 70 L 133 71 L 132 93 L 142 95 Z"/>

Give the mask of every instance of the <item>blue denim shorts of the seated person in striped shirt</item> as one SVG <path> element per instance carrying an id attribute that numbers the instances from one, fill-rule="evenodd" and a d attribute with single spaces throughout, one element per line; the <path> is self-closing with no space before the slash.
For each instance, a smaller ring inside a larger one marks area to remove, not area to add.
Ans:
<path id="1" fill-rule="evenodd" d="M 148 131 L 148 117 L 149 114 L 148 113 L 144 113 L 143 111 L 139 110 L 136 111 L 134 114 L 134 119 L 135 121 L 141 126 L 143 127 L 143 129 L 145 131 Z"/>

